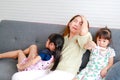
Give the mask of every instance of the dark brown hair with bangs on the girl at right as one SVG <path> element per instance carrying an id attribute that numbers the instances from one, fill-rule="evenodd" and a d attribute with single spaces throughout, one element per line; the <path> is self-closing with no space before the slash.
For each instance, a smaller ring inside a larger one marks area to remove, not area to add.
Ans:
<path id="1" fill-rule="evenodd" d="M 103 38 L 103 39 L 107 39 L 111 42 L 111 38 L 112 38 L 112 35 L 111 35 L 111 30 L 108 29 L 107 27 L 105 28 L 100 28 L 97 33 L 96 33 L 96 36 L 95 36 L 95 42 L 97 42 L 97 38 Z"/>

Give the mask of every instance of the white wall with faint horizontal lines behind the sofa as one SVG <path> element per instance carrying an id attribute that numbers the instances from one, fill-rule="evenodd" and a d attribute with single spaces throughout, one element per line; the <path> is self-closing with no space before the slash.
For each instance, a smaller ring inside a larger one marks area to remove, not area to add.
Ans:
<path id="1" fill-rule="evenodd" d="M 120 28 L 119 0 L 0 0 L 0 20 L 66 24 L 82 14 L 90 26 Z"/>

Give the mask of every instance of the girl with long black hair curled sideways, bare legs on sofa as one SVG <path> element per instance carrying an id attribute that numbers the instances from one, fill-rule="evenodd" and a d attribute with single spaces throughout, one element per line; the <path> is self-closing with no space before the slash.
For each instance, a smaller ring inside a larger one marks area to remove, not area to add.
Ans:
<path id="1" fill-rule="evenodd" d="M 28 49 L 16 50 L 0 54 L 0 58 L 16 58 L 18 57 L 17 68 L 19 71 L 28 70 L 46 70 L 54 65 L 51 70 L 55 70 L 61 56 L 61 50 L 64 44 L 64 38 L 59 34 L 51 34 L 46 42 L 46 49 L 37 53 L 37 46 L 32 45 Z M 26 57 L 25 54 L 29 56 Z"/>

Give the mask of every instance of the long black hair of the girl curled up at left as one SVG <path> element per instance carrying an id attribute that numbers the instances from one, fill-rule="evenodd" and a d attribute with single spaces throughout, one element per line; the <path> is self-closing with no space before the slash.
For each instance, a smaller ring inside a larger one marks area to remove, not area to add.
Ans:
<path id="1" fill-rule="evenodd" d="M 51 70 L 55 70 L 61 57 L 61 51 L 64 44 L 64 38 L 60 34 L 53 33 L 51 34 L 48 39 L 50 40 L 50 43 L 54 43 L 55 45 L 55 51 L 52 54 L 54 56 L 54 65 Z"/>

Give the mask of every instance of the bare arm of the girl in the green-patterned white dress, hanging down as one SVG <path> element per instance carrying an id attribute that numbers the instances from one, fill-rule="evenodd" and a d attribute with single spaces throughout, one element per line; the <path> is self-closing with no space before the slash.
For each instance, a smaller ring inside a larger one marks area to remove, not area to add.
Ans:
<path id="1" fill-rule="evenodd" d="M 113 65 L 113 60 L 114 60 L 114 58 L 111 57 L 111 58 L 109 59 L 108 65 L 101 70 L 100 75 L 101 75 L 102 78 L 104 78 L 104 77 L 106 76 L 107 71 L 112 67 L 112 65 Z"/>

